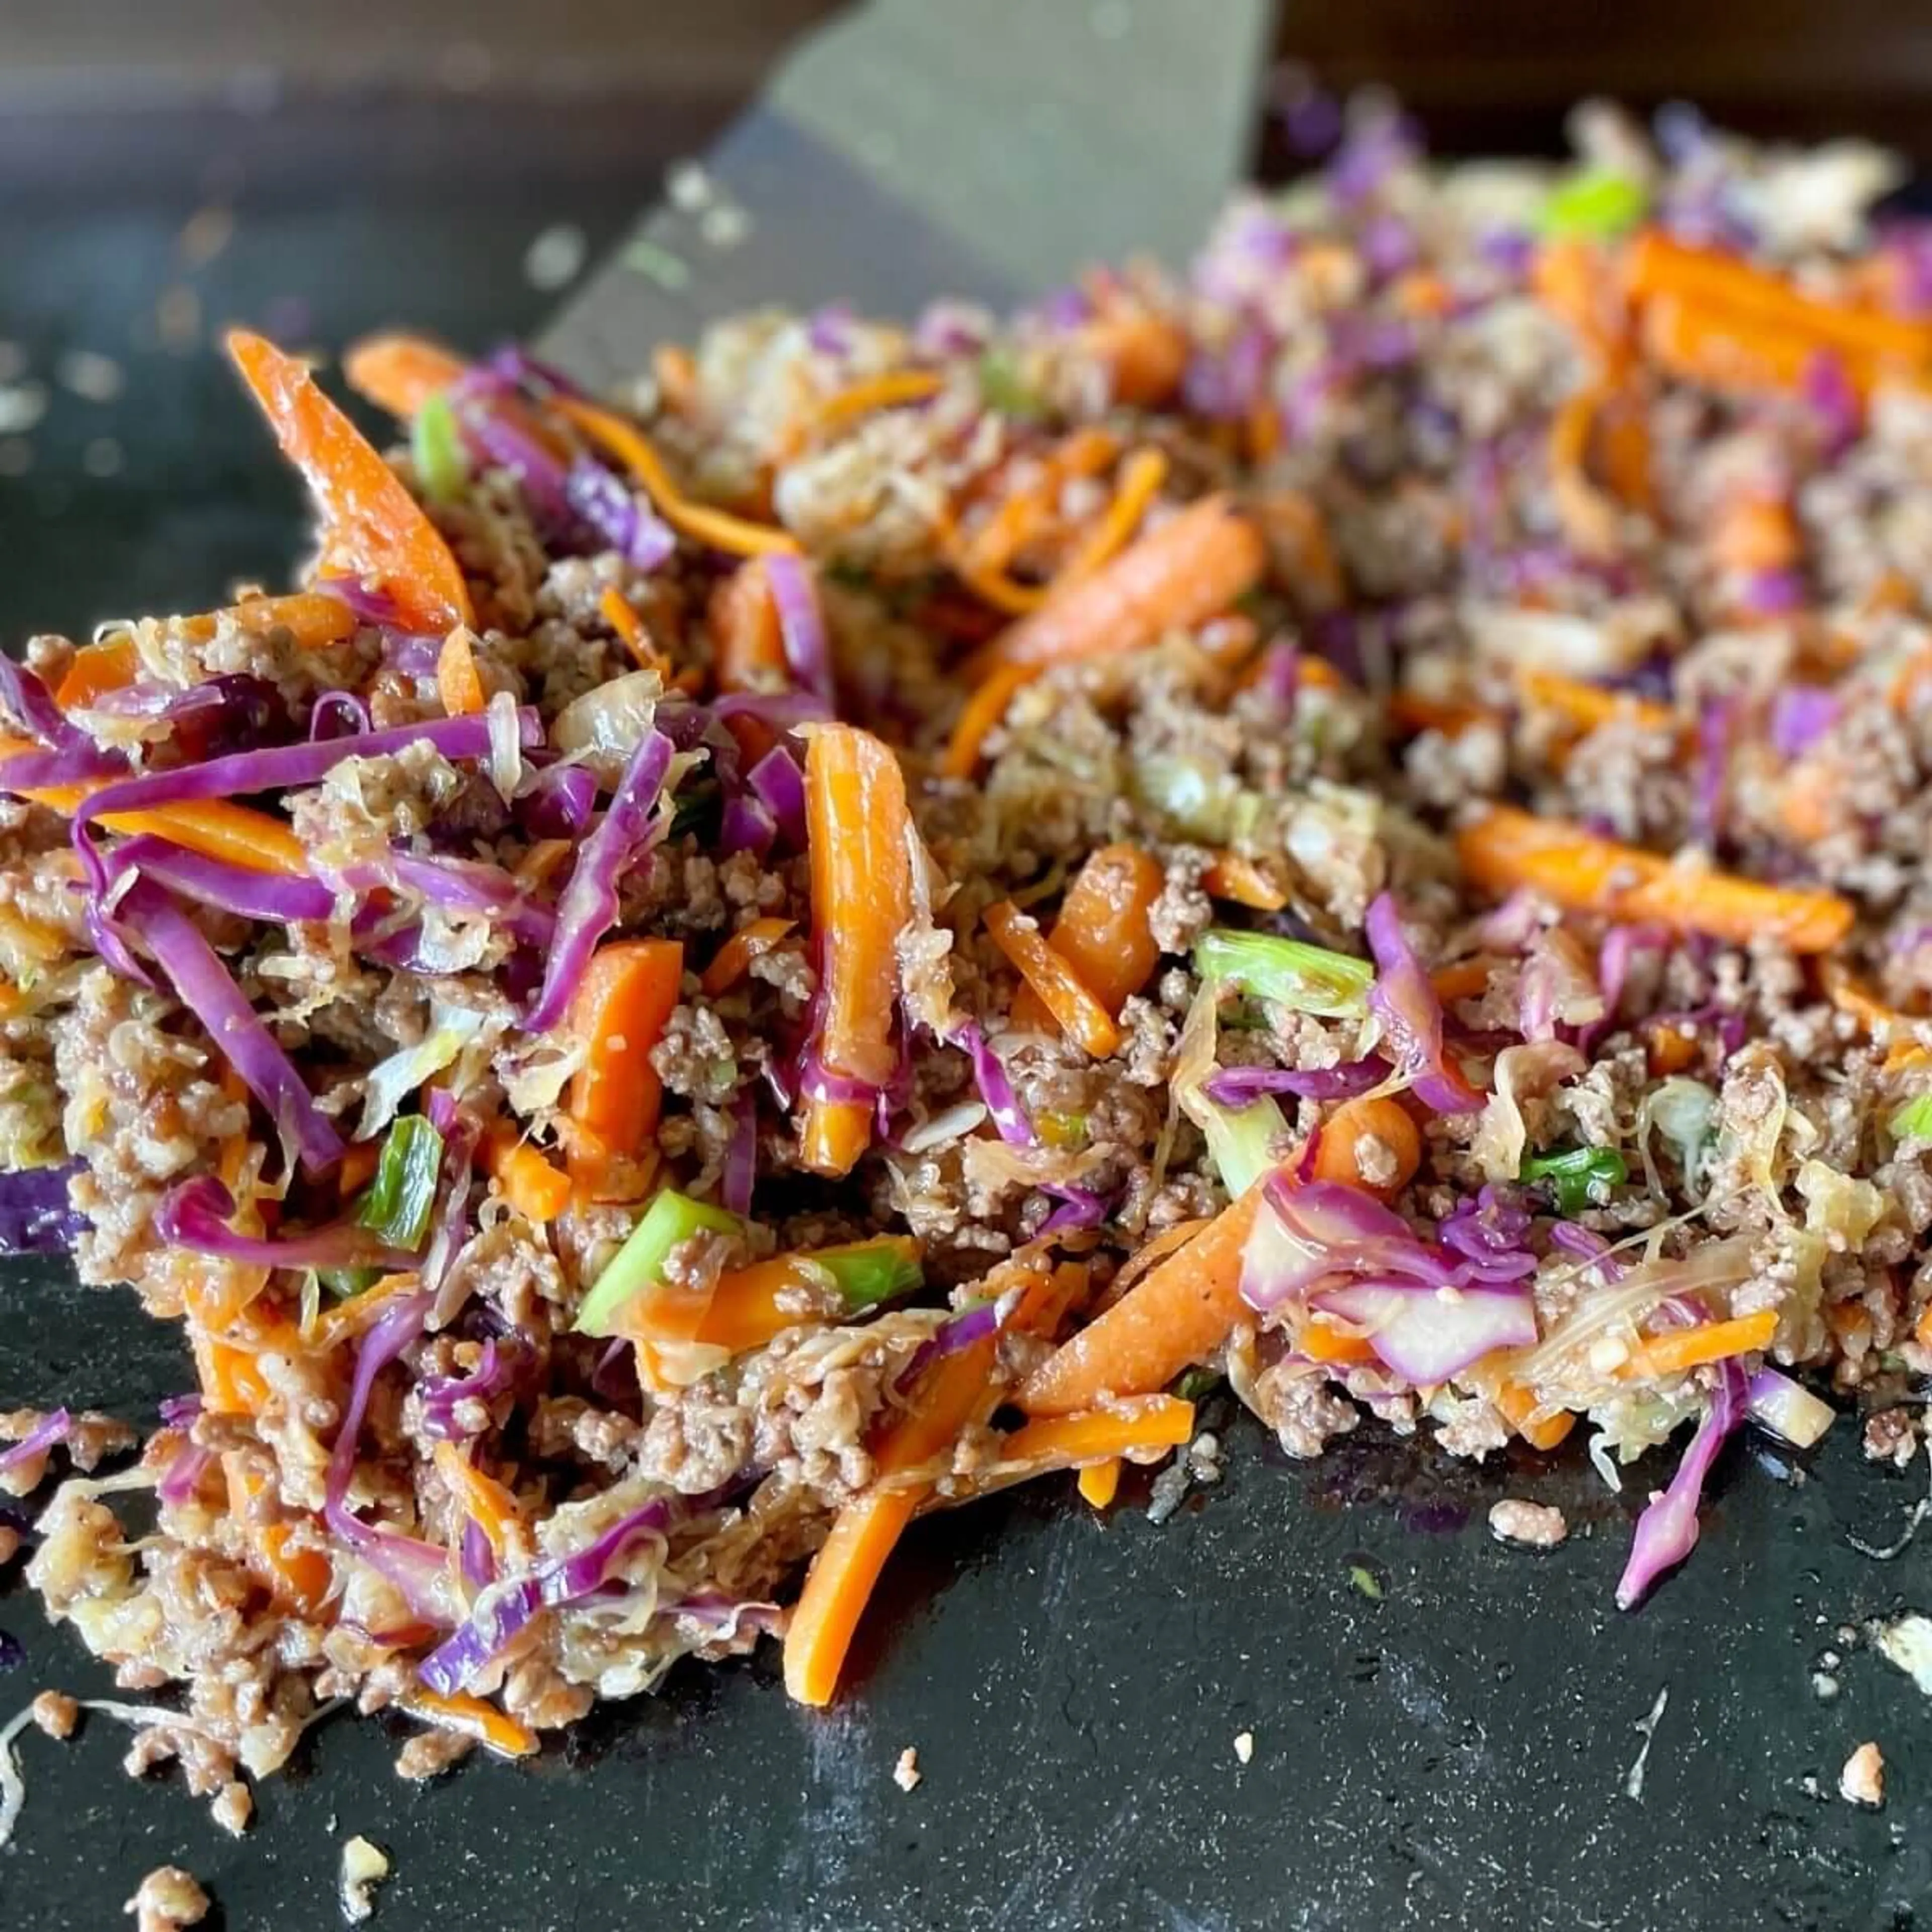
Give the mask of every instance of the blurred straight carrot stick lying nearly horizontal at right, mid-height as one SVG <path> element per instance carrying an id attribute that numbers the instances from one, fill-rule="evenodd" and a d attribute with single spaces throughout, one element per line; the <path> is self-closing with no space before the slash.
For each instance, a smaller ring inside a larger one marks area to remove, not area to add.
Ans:
<path id="1" fill-rule="evenodd" d="M 1457 835 L 1470 881 L 1490 893 L 1534 887 L 1571 912 L 1658 920 L 1679 933 L 1748 945 L 1776 935 L 1793 952 L 1830 952 L 1851 931 L 1851 904 L 1835 893 L 1760 885 L 1725 871 L 1673 866 L 1580 825 L 1492 806 Z"/>

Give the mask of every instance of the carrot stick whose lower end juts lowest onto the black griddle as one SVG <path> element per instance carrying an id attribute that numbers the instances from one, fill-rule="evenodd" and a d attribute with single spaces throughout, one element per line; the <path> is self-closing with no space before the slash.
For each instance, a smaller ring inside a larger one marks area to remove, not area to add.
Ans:
<path id="1" fill-rule="evenodd" d="M 898 1422 L 873 1449 L 881 1484 L 943 1455 L 987 1399 L 993 1341 L 941 1356 L 925 1374 Z M 875 1486 L 846 1503 L 811 1559 L 798 1607 L 784 1633 L 784 1689 L 800 1704 L 829 1704 L 858 1619 L 871 1600 L 885 1559 L 931 1484 Z"/>

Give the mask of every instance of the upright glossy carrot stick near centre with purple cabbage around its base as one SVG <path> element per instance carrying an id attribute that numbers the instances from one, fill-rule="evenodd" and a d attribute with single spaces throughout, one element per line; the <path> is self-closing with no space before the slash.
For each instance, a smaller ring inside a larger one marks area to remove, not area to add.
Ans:
<path id="1" fill-rule="evenodd" d="M 893 1007 L 898 935 L 912 918 L 912 819 L 898 759 L 871 732 L 852 724 L 813 730 L 806 829 L 825 1001 L 817 1057 L 829 1074 L 885 1086 L 898 1065 Z M 813 1173 L 850 1173 L 869 1140 L 866 1101 L 806 1103 L 800 1144 Z"/>

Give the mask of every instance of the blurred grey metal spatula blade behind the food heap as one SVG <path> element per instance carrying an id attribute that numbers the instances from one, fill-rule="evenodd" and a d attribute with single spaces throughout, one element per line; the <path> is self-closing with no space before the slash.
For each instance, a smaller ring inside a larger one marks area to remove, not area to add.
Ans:
<path id="1" fill-rule="evenodd" d="M 591 388 L 742 309 L 1007 309 L 1182 263 L 1248 162 L 1273 0 L 869 0 L 813 33 L 539 352 Z"/>

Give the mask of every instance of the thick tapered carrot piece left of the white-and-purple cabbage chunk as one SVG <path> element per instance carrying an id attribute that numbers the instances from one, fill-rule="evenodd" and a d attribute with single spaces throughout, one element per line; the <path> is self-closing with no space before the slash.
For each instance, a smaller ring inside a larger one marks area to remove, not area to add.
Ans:
<path id="1" fill-rule="evenodd" d="M 1246 1306 L 1240 1254 L 1260 1202 L 1256 1182 L 1063 1343 L 1020 1383 L 1020 1406 L 1068 1416 L 1109 1395 L 1151 1395 L 1219 1349 Z"/>

